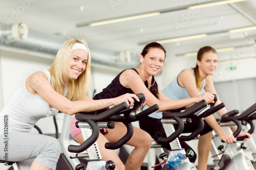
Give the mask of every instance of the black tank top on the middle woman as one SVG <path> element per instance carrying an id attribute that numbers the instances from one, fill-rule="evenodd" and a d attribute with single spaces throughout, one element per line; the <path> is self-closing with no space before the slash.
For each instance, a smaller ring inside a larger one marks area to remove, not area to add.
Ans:
<path id="1" fill-rule="evenodd" d="M 130 68 L 134 71 L 137 72 L 137 74 L 139 74 L 139 72 L 135 69 L 135 68 Z M 126 69 L 125 69 L 126 70 Z M 123 70 L 123 71 L 125 71 Z M 126 88 L 124 87 L 123 85 L 121 85 L 120 81 L 119 81 L 119 78 L 120 78 L 120 75 L 123 73 L 120 72 L 114 80 L 112 80 L 112 82 L 102 90 L 102 92 L 96 94 L 94 96 L 94 100 L 99 100 L 99 99 L 110 99 L 110 98 L 116 98 L 120 95 L 123 95 L 125 93 L 134 93 L 133 90 L 131 88 Z M 145 86 L 148 87 L 148 83 L 147 81 L 145 81 Z"/>

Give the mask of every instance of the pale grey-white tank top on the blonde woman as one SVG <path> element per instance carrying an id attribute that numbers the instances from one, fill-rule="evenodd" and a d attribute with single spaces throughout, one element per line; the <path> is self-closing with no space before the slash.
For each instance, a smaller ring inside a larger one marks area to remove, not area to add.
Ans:
<path id="1" fill-rule="evenodd" d="M 48 81 L 51 83 L 51 75 L 48 70 L 45 72 Z M 21 132 L 29 132 L 40 118 L 45 118 L 58 113 L 55 108 L 39 95 L 33 95 L 26 89 L 26 81 L 12 96 L 11 100 L 0 112 L 0 125 L 4 125 L 4 117 L 8 118 L 9 130 L 15 129 Z M 6 120 L 6 119 L 5 119 Z M 0 134 L 4 132 L 4 126 L 0 126 Z"/>

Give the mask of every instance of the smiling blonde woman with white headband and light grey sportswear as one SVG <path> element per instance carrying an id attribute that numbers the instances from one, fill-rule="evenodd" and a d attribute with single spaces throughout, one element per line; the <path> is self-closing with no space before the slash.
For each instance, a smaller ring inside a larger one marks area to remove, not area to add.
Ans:
<path id="1" fill-rule="evenodd" d="M 0 125 L 8 121 L 8 133 L 0 126 L 1 139 L 8 138 L 6 161 L 17 162 L 19 169 L 53 169 L 61 151 L 58 140 L 30 133 L 40 118 L 53 116 L 58 111 L 70 115 L 94 111 L 122 102 L 132 106 L 132 98 L 138 100 L 134 94 L 99 101 L 89 98 L 90 65 L 87 45 L 69 39 L 59 48 L 50 70 L 36 71 L 26 79 L 0 112 Z M 0 142 L 1 158 L 5 158 L 5 148 L 5 143 Z"/>

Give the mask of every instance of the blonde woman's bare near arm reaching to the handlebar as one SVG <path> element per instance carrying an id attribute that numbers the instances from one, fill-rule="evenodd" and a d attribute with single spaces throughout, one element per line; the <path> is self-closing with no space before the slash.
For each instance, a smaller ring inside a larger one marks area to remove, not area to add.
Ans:
<path id="1" fill-rule="evenodd" d="M 97 101 L 70 101 L 65 96 L 59 94 L 52 88 L 46 74 L 42 71 L 35 72 L 26 80 L 26 88 L 32 94 L 40 95 L 41 98 L 49 104 L 49 106 L 70 115 L 81 111 L 89 112 L 99 110 L 109 107 L 111 105 L 118 105 L 122 102 L 126 102 L 127 105 L 132 106 L 134 103 L 134 100 L 132 98 L 135 98 L 137 101 L 139 101 L 135 94 L 124 94 L 122 96 L 119 96 L 118 98 L 103 99 Z M 89 99 L 89 97 L 86 97 L 86 99 Z"/>

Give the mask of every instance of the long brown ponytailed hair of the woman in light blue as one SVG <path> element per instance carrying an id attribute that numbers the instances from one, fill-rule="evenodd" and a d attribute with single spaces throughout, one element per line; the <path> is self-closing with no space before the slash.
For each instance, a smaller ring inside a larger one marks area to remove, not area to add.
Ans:
<path id="1" fill-rule="evenodd" d="M 201 61 L 203 58 L 203 55 L 205 53 L 215 53 L 217 54 L 216 50 L 214 48 L 212 48 L 211 46 L 204 46 L 202 48 L 199 49 L 198 53 L 197 53 L 197 60 Z M 201 89 L 201 77 L 200 77 L 200 72 L 199 72 L 199 66 L 196 65 L 196 67 L 194 68 L 194 72 L 195 72 L 195 76 L 196 76 L 196 85 L 197 88 Z"/>

